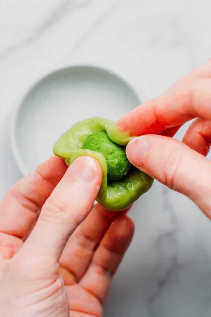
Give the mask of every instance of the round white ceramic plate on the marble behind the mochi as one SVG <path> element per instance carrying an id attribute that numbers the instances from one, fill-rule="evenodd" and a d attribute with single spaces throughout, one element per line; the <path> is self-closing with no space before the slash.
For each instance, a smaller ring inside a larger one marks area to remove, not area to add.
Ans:
<path id="1" fill-rule="evenodd" d="M 120 76 L 94 66 L 62 68 L 41 78 L 18 104 L 11 133 L 13 153 L 25 175 L 53 155 L 59 137 L 74 123 L 118 120 L 141 103 Z"/>

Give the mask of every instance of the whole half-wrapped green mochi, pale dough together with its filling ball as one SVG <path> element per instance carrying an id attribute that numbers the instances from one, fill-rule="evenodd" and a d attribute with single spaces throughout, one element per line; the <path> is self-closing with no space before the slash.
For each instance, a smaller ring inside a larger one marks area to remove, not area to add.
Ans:
<path id="1" fill-rule="evenodd" d="M 148 191 L 153 178 L 130 164 L 125 146 L 133 139 L 116 126 L 116 122 L 103 118 L 79 121 L 66 131 L 53 147 L 55 155 L 69 166 L 79 156 L 96 159 L 102 168 L 102 183 L 96 200 L 105 209 L 127 209 Z"/>

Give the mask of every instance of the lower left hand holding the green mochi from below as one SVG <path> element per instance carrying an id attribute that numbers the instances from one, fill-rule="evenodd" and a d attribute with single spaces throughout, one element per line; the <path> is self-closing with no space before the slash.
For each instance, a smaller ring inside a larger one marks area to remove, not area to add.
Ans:
<path id="1" fill-rule="evenodd" d="M 0 205 L 1 316 L 102 316 L 134 227 L 125 212 L 98 204 L 90 211 L 101 179 L 94 159 L 78 158 L 67 169 L 52 157 L 6 195 Z"/>

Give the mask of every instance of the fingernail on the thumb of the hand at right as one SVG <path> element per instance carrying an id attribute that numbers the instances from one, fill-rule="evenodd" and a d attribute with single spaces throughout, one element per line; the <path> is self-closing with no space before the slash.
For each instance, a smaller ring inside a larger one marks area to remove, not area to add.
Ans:
<path id="1" fill-rule="evenodd" d="M 126 154 L 131 164 L 136 167 L 140 167 L 142 165 L 147 147 L 148 143 L 143 137 L 137 137 L 127 144 Z"/>

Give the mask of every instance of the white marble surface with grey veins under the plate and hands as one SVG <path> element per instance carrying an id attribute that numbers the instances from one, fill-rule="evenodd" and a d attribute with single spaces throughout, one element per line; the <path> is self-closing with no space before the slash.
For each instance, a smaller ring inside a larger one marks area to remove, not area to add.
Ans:
<path id="1" fill-rule="evenodd" d="M 40 74 L 95 63 L 149 99 L 210 57 L 210 29 L 207 0 L 1 0 L 0 198 L 21 178 L 9 141 L 12 113 Z M 135 236 L 104 316 L 210 316 L 210 221 L 158 182 L 130 215 Z"/>

